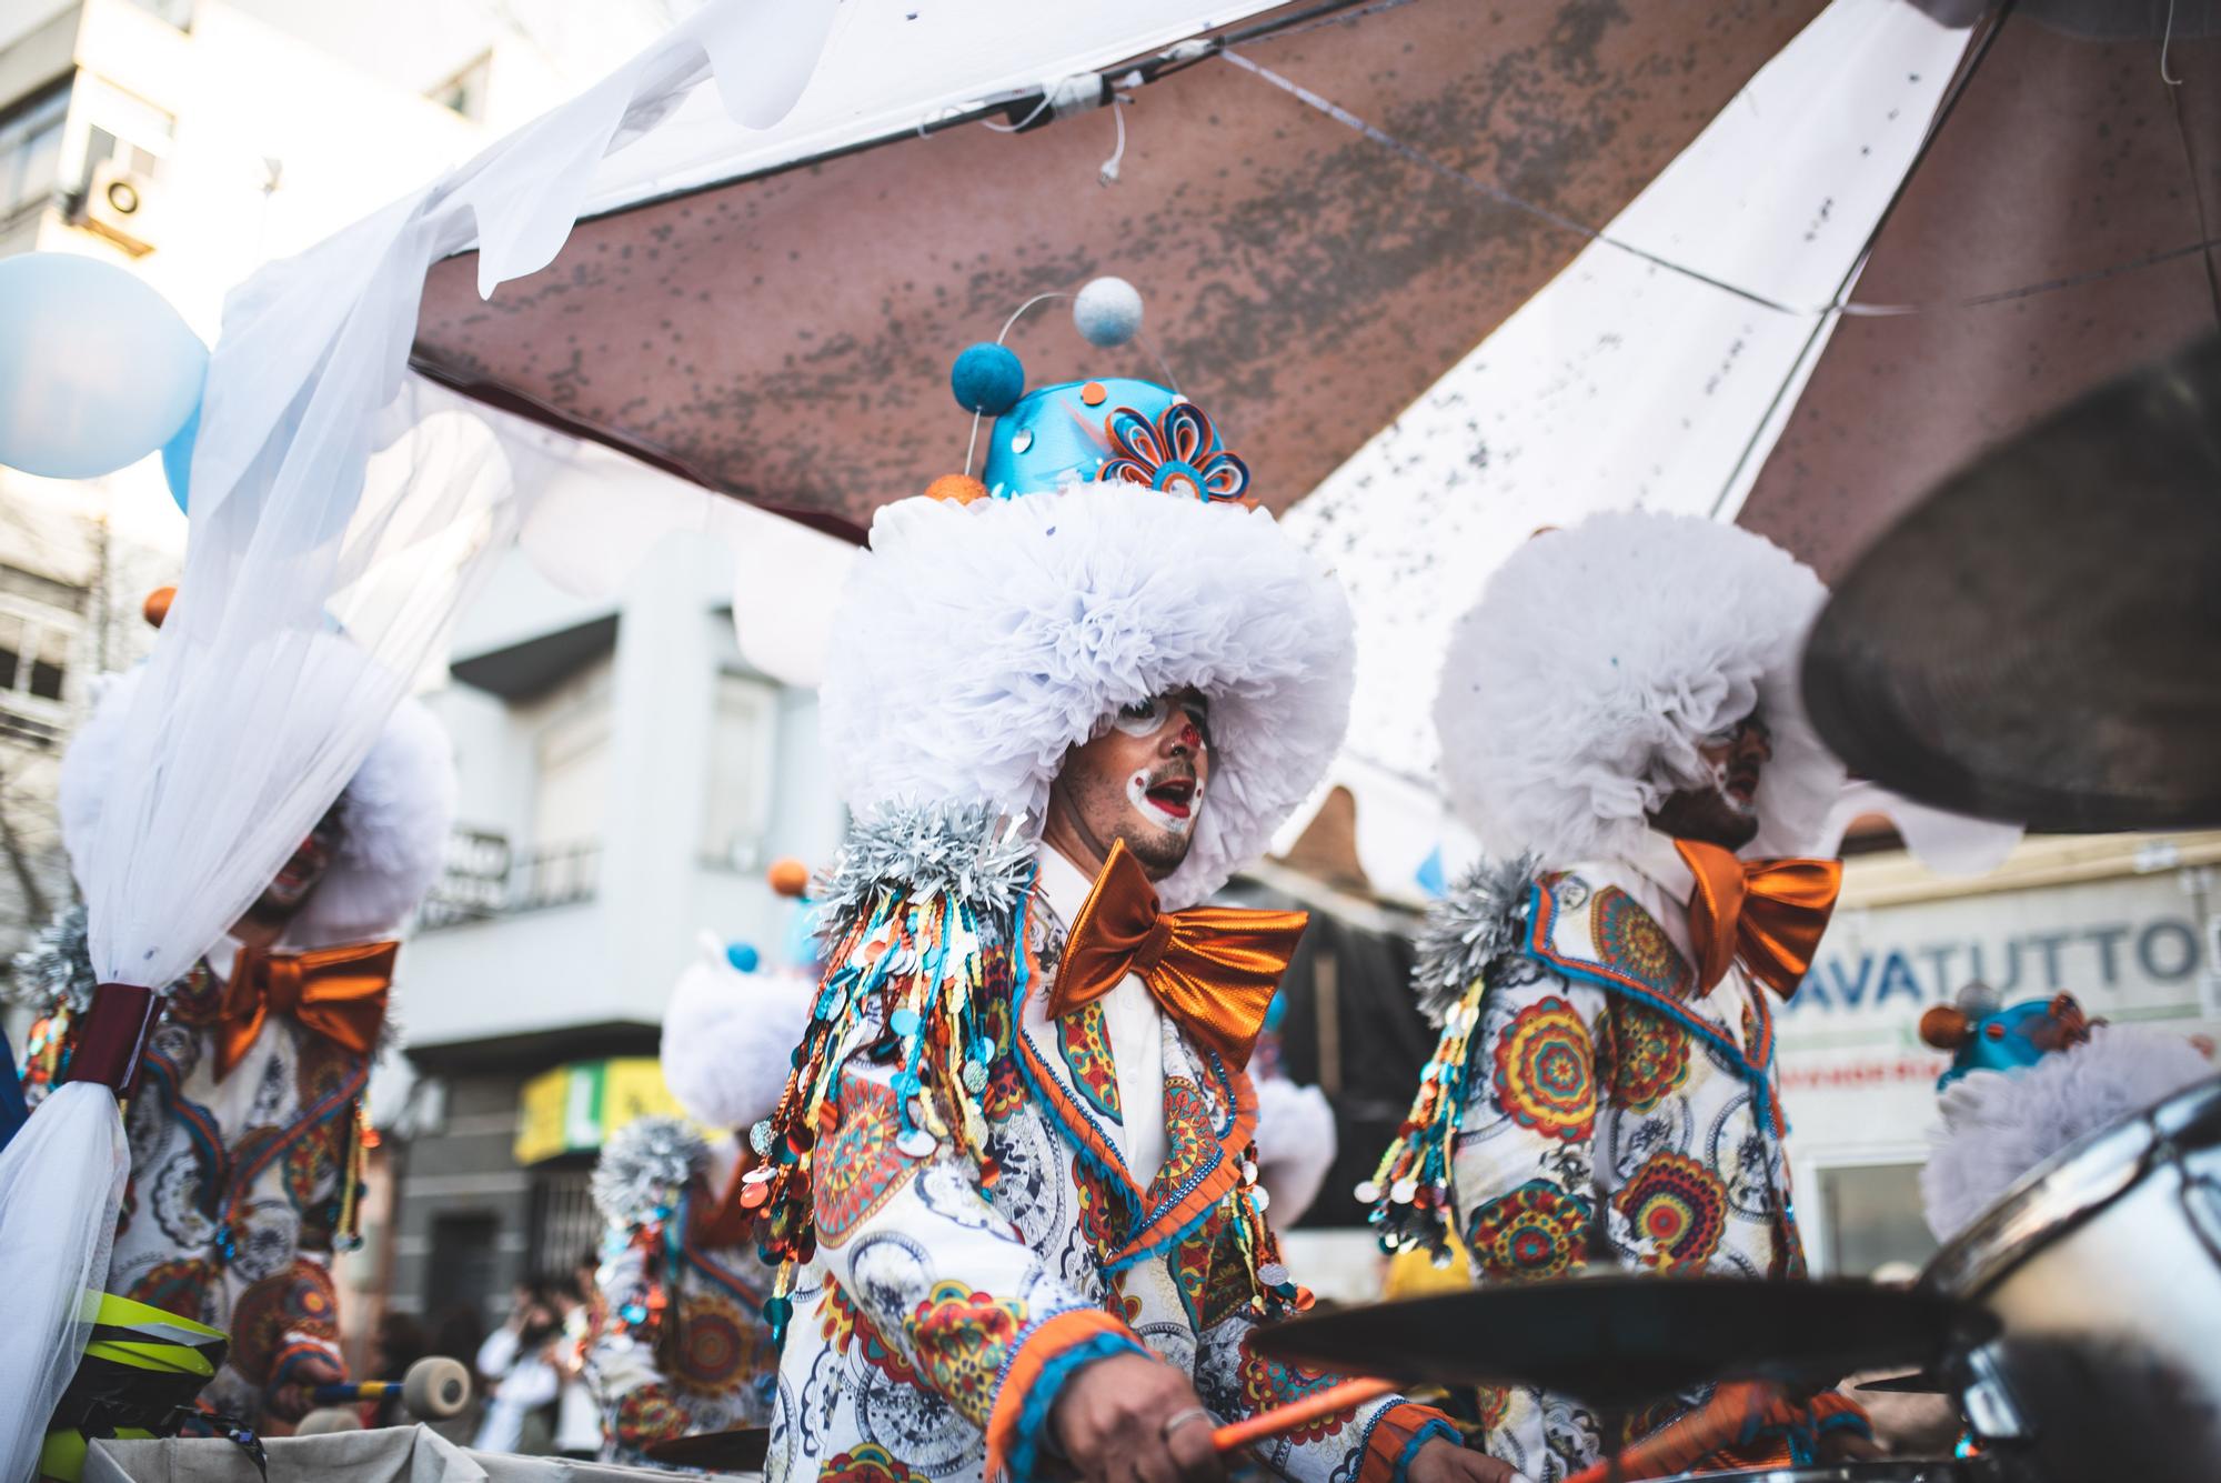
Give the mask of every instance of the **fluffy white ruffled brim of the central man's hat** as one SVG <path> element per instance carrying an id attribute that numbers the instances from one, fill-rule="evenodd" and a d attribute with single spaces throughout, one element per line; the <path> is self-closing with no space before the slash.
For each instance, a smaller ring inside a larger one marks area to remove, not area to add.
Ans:
<path id="1" fill-rule="evenodd" d="M 1210 697 L 1210 790 L 1168 910 L 1217 890 L 1324 777 L 1350 708 L 1350 611 L 1264 511 L 1135 484 L 882 506 L 820 693 L 857 817 L 1028 813 L 1119 706 Z"/>

